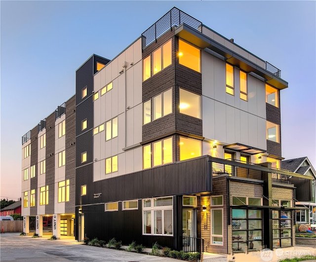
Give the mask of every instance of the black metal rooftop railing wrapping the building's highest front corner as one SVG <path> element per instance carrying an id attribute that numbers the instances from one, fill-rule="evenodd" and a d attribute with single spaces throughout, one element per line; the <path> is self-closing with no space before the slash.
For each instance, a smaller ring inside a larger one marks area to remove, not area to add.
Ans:
<path id="1" fill-rule="evenodd" d="M 162 36 L 166 31 L 172 30 L 172 27 L 177 27 L 182 23 L 186 23 L 199 32 L 202 31 L 202 23 L 200 21 L 173 7 L 142 34 L 142 49 L 146 48 L 152 42 L 157 41 L 158 37 Z"/>

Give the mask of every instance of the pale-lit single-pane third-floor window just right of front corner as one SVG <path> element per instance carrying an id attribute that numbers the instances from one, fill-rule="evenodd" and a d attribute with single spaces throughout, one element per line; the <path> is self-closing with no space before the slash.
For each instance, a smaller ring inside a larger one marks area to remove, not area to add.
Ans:
<path id="1" fill-rule="evenodd" d="M 180 113 L 201 118 L 200 96 L 180 88 Z"/>

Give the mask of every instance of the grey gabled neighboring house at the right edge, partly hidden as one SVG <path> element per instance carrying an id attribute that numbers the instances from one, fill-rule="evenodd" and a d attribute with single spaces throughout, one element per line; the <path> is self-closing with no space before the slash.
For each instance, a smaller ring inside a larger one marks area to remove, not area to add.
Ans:
<path id="1" fill-rule="evenodd" d="M 281 168 L 313 178 L 311 182 L 295 190 L 295 205 L 303 208 L 295 211 L 295 222 L 316 227 L 316 171 L 313 165 L 307 157 L 300 157 L 282 160 Z"/>

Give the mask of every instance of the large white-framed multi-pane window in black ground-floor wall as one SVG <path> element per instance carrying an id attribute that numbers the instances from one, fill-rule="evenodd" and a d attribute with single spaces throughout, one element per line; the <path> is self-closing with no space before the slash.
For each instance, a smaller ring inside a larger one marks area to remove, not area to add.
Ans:
<path id="1" fill-rule="evenodd" d="M 173 235 L 173 199 L 143 199 L 143 234 Z"/>

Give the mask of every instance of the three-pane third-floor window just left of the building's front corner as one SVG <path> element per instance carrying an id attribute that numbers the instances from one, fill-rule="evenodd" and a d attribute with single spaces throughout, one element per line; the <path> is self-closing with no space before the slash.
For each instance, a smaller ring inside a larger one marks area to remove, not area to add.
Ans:
<path id="1" fill-rule="evenodd" d="M 143 105 L 144 124 L 151 122 L 151 101 L 144 102 Z M 172 88 L 153 98 L 153 120 L 172 113 Z"/>

